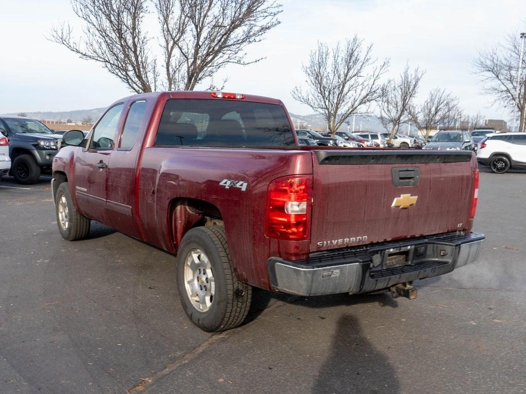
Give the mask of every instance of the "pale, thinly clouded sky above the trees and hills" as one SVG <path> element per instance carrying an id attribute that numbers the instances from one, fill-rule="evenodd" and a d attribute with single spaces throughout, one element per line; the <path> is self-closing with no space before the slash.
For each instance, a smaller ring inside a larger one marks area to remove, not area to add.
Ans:
<path id="1" fill-rule="evenodd" d="M 105 107 L 129 91 L 92 61 L 79 59 L 45 36 L 63 20 L 79 31 L 67 0 L 0 0 L 0 113 L 68 111 Z M 469 113 L 508 119 L 491 98 L 480 94 L 470 60 L 524 26 L 524 0 L 282 0 L 281 25 L 264 42 L 249 47 L 266 59 L 246 67 L 230 66 L 226 91 L 280 98 L 289 111 L 312 111 L 296 102 L 290 90 L 304 81 L 301 64 L 317 40 L 335 44 L 357 34 L 374 44 L 373 55 L 390 58 L 395 76 L 406 62 L 426 70 L 417 101 L 435 87 L 460 98 Z M 148 25 L 152 37 L 154 24 Z"/>

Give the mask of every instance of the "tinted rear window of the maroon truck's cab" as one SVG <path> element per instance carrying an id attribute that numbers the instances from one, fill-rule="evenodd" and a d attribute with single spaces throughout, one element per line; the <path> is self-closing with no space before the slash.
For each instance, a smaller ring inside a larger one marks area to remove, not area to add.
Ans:
<path id="1" fill-rule="evenodd" d="M 156 146 L 291 146 L 292 129 L 278 105 L 221 99 L 170 99 Z"/>

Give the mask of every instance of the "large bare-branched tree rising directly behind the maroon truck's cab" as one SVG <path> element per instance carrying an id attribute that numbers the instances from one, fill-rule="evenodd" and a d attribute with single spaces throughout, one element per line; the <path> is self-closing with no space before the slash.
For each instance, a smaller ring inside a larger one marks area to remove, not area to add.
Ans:
<path id="1" fill-rule="evenodd" d="M 161 77 L 154 41 L 144 32 L 148 4 L 154 5 L 163 51 Z M 136 93 L 162 86 L 194 90 L 228 64 L 247 65 L 245 48 L 260 42 L 277 19 L 274 0 L 72 0 L 85 22 L 80 39 L 69 24 L 52 29 L 50 39 L 102 63 Z"/>

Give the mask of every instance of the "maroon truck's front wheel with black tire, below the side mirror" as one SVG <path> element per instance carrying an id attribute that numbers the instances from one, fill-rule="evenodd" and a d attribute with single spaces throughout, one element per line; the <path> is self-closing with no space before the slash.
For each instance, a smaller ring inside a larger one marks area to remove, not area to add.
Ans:
<path id="1" fill-rule="evenodd" d="M 59 213 L 61 205 L 64 202 L 67 206 L 67 211 L 63 219 L 65 219 L 67 225 L 62 224 L 64 220 L 61 220 Z M 60 184 L 60 186 L 58 186 L 57 193 L 55 195 L 55 214 L 57 217 L 58 231 L 65 240 L 82 240 L 89 234 L 91 220 L 88 217 L 78 213 L 77 207 L 73 203 L 71 194 L 69 193 L 67 182 L 63 182 Z"/>

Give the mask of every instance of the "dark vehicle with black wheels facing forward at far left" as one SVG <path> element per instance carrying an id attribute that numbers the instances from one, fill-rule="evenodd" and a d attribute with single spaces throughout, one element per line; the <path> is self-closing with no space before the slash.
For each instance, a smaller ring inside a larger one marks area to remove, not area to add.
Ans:
<path id="1" fill-rule="evenodd" d="M 58 151 L 57 140 L 62 136 L 36 119 L 19 116 L 1 117 L 0 132 L 7 137 L 12 162 L 10 173 L 18 183 L 36 183 L 41 172 L 50 171 Z"/>

